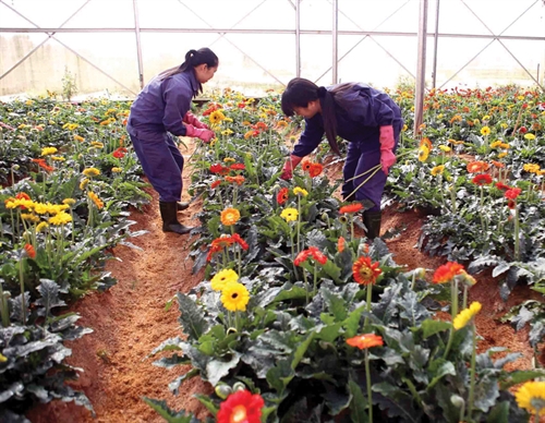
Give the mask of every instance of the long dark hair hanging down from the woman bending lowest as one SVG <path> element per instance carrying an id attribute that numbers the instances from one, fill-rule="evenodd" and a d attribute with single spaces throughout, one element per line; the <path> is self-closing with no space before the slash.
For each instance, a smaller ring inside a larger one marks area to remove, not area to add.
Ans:
<path id="1" fill-rule="evenodd" d="M 326 87 L 318 87 L 312 81 L 295 77 L 288 83 L 282 93 L 282 111 L 286 116 L 293 116 L 295 107 L 308 107 L 310 101 L 319 100 L 324 130 L 331 149 L 340 155 L 337 145 L 337 117 L 335 116 L 335 98 Z"/>

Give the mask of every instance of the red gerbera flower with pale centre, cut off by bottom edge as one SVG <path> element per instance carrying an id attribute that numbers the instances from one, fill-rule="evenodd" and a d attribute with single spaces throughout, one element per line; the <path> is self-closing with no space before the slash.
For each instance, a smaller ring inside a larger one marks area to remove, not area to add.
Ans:
<path id="1" fill-rule="evenodd" d="M 221 402 L 216 418 L 218 423 L 261 423 L 264 406 L 261 395 L 239 390 Z"/>

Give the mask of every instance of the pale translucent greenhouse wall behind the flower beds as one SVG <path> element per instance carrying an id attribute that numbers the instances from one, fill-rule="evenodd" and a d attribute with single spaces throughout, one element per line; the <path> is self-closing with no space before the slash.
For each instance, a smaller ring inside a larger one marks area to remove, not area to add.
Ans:
<path id="1" fill-rule="evenodd" d="M 298 67 L 322 85 L 414 84 L 424 2 L 426 87 L 543 86 L 543 0 L 0 0 L 0 96 L 61 94 L 70 74 L 80 95 L 131 98 L 199 47 L 220 59 L 208 89 L 259 95 Z"/>

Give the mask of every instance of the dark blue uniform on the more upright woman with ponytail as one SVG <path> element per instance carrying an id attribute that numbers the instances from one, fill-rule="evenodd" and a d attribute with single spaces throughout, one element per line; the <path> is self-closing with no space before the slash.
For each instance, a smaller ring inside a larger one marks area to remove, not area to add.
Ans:
<path id="1" fill-rule="evenodd" d="M 131 107 L 126 130 L 144 173 L 161 202 L 178 202 L 182 195 L 183 156 L 172 134 L 185 135 L 182 119 L 197 89 L 193 70 L 162 81 L 156 76 Z"/>

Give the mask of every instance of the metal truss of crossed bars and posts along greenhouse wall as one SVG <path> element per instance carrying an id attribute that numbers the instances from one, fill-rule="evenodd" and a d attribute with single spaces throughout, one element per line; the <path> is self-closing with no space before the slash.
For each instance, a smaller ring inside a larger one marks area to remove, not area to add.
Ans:
<path id="1" fill-rule="evenodd" d="M 45 1 L 45 0 L 44 0 Z M 330 3 L 331 5 L 331 16 L 332 16 L 332 25 L 331 25 L 331 31 L 310 31 L 310 29 L 302 29 L 301 28 L 301 2 L 303 0 L 286 0 L 288 1 L 293 10 L 294 10 L 294 29 L 242 29 L 242 28 L 237 28 L 237 26 L 244 20 L 249 19 L 254 11 L 256 11 L 258 8 L 261 8 L 264 3 L 267 1 L 272 1 L 272 0 L 255 0 L 255 7 L 250 10 L 246 14 L 244 14 L 240 20 L 238 20 L 231 27 L 229 28 L 215 28 L 213 27 L 203 16 L 199 16 L 196 12 L 194 12 L 184 0 L 178 0 L 178 2 L 184 7 L 195 19 L 201 21 L 203 23 L 203 27 L 201 28 L 184 28 L 184 27 L 171 27 L 171 28 L 152 28 L 152 27 L 145 27 L 143 28 L 140 25 L 140 14 L 138 14 L 138 0 L 133 0 L 133 14 L 134 14 L 134 27 L 118 27 L 118 28 L 65 28 L 64 25 L 70 22 L 76 14 L 78 14 L 90 1 L 93 0 L 87 0 L 85 3 L 83 3 L 74 13 L 72 13 L 59 27 L 40 27 L 36 23 L 32 22 L 28 17 L 24 16 L 21 12 L 19 12 L 12 5 L 8 4 L 5 0 L 0 0 L 0 5 L 4 5 L 12 10 L 14 13 L 16 13 L 19 16 L 23 17 L 26 20 L 28 23 L 31 23 L 34 27 L 31 28 L 22 28 L 22 27 L 0 27 L 0 34 L 1 33 L 44 33 L 47 35 L 47 37 L 38 44 L 36 47 L 34 47 L 29 52 L 27 52 L 23 58 L 21 58 L 15 64 L 13 64 L 9 70 L 7 70 L 3 74 L 0 75 L 0 80 L 7 76 L 9 73 L 11 73 L 14 69 L 16 69 L 21 63 L 23 63 L 26 59 L 28 59 L 36 50 L 38 50 L 39 47 L 41 47 L 44 44 L 49 41 L 50 39 L 56 40 L 60 45 L 62 45 L 64 48 L 76 55 L 78 58 L 84 60 L 86 63 L 92 65 L 94 69 L 122 86 L 124 89 L 126 89 L 129 93 L 132 93 L 133 95 L 136 95 L 132 89 L 126 87 L 122 82 L 116 80 L 113 76 L 111 76 L 108 72 L 105 70 L 100 69 L 100 67 L 96 65 L 93 63 L 90 60 L 87 58 L 83 57 L 81 53 L 75 51 L 74 49 L 70 48 L 66 46 L 64 43 L 59 40 L 56 37 L 56 34 L 61 34 L 61 33 L 134 33 L 135 35 L 135 41 L 136 41 L 136 52 L 137 52 L 137 65 L 138 65 L 138 81 L 140 81 L 140 86 L 144 86 L 144 70 L 143 70 L 143 53 L 142 53 L 142 43 L 141 43 L 141 35 L 144 33 L 208 33 L 208 34 L 218 34 L 218 37 L 216 40 L 211 43 L 215 44 L 220 39 L 223 39 L 228 41 L 231 46 L 233 46 L 235 49 L 238 49 L 241 53 L 243 53 L 245 57 L 247 57 L 255 65 L 261 68 L 264 72 L 266 72 L 271 78 L 277 81 L 279 84 L 283 85 L 283 83 L 280 81 L 279 77 L 277 77 L 272 72 L 267 70 L 264 65 L 259 64 L 257 60 L 252 58 L 251 55 L 249 55 L 246 51 L 244 51 L 240 46 L 238 46 L 235 43 L 233 43 L 231 39 L 229 39 L 230 34 L 271 34 L 271 35 L 280 35 L 280 34 L 288 34 L 288 35 L 293 35 L 294 40 L 295 40 L 295 69 L 294 69 L 294 75 L 300 76 L 301 75 L 301 36 L 302 35 L 312 35 L 312 34 L 320 34 L 320 35 L 329 35 L 331 36 L 331 41 L 332 41 L 332 51 L 331 51 L 331 64 L 318 76 L 318 80 L 324 77 L 328 72 L 331 72 L 331 83 L 337 83 L 339 81 L 338 77 L 338 65 L 339 62 L 341 62 L 346 57 L 348 57 L 362 41 L 365 39 L 372 40 L 382 50 L 385 51 L 392 60 L 395 60 L 399 67 L 401 67 L 409 75 L 411 75 L 415 82 L 416 82 L 416 101 L 415 101 L 415 128 L 422 123 L 422 102 L 424 98 L 424 93 L 425 93 L 425 75 L 426 75 L 426 44 L 427 44 L 427 38 L 433 37 L 434 39 L 434 49 L 433 49 L 433 69 L 432 69 L 432 77 L 433 77 L 433 86 L 436 86 L 436 71 L 437 71 L 437 50 L 438 50 L 438 43 L 440 38 L 475 38 L 475 39 L 488 39 L 489 43 L 482 48 L 479 52 L 476 52 L 468 62 L 465 62 L 457 72 L 455 72 L 446 82 L 444 82 L 439 87 L 445 86 L 448 82 L 450 82 L 452 78 L 455 78 L 464 68 L 467 68 L 479 55 L 481 55 L 484 50 L 486 50 L 493 43 L 497 41 L 506 50 L 507 52 L 514 59 L 514 61 L 529 74 L 529 76 L 532 78 L 532 81 L 541 87 L 541 89 L 544 89 L 544 86 L 540 84 L 538 78 L 534 77 L 534 75 L 531 74 L 531 72 L 524 68 L 522 62 L 516 57 L 516 55 L 510 51 L 507 46 L 505 45 L 504 40 L 537 40 L 537 41 L 543 41 L 545 45 L 545 37 L 528 37 L 528 36 L 508 36 L 504 35 L 506 31 L 511 27 L 517 21 L 519 21 L 523 15 L 525 15 L 530 9 L 532 9 L 536 3 L 543 0 L 535 0 L 524 12 L 522 12 L 519 16 L 517 16 L 504 31 L 501 31 L 499 34 L 495 34 L 467 3 L 467 0 L 459 0 L 461 5 L 463 8 L 467 8 L 483 25 L 484 27 L 489 32 L 489 34 L 484 34 L 484 35 L 477 35 L 477 34 L 447 34 L 447 33 L 439 33 L 439 10 L 440 10 L 440 0 L 436 0 L 436 16 L 435 16 L 435 31 L 434 33 L 428 33 L 427 32 L 427 10 L 428 10 L 428 0 L 407 0 L 404 3 L 402 3 L 398 9 L 396 9 L 392 13 L 390 13 L 385 20 L 383 20 L 380 23 L 378 23 L 372 31 L 363 31 L 363 28 L 354 22 L 348 14 L 346 14 L 341 9 L 339 9 L 339 0 L 326 0 Z M 274 0 L 278 1 L 278 0 Z M 378 28 L 387 22 L 389 19 L 391 19 L 393 15 L 402 12 L 402 9 L 409 4 L 412 1 L 419 1 L 420 2 L 420 12 L 419 12 L 419 31 L 416 33 L 413 32 L 380 32 Z M 344 19 L 347 19 L 349 22 L 351 22 L 358 29 L 356 31 L 343 31 L 339 28 L 338 25 L 338 17 L 339 14 L 341 14 Z M 348 35 L 358 35 L 361 36 L 361 39 L 358 40 L 351 48 L 348 49 L 341 57 L 339 57 L 339 51 L 338 51 L 338 40 L 339 37 L 342 36 L 348 36 Z M 417 69 L 411 71 L 405 67 L 401 61 L 399 61 L 396 56 L 391 52 L 388 51 L 387 48 L 385 48 L 378 40 L 377 38 L 382 36 L 399 36 L 399 37 L 412 37 L 417 39 Z"/>

